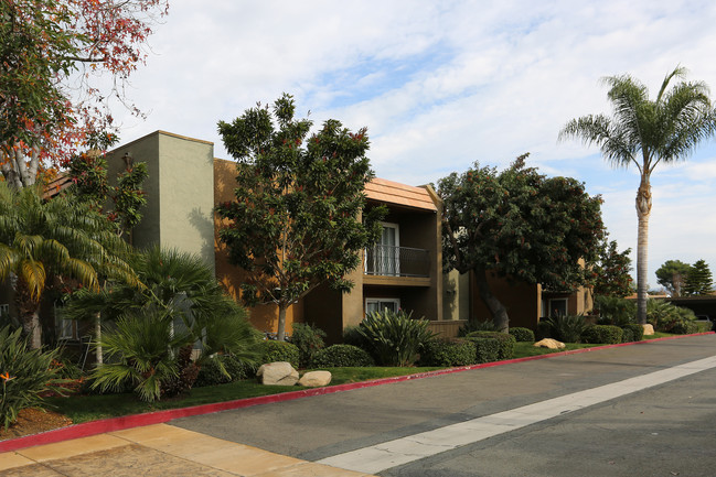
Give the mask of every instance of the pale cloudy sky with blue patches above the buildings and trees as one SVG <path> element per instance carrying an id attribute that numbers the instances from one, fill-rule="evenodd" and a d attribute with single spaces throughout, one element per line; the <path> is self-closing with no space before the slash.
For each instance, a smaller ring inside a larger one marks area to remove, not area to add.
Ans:
<path id="1" fill-rule="evenodd" d="M 630 74 L 655 94 L 677 65 L 716 88 L 713 1 L 170 0 L 129 97 L 122 141 L 158 129 L 214 142 L 257 101 L 282 91 L 316 123 L 367 127 L 378 176 L 436 182 L 471 163 L 531 153 L 605 199 L 620 249 L 637 246 L 635 170 L 558 143 L 567 120 L 609 112 L 603 76 Z M 669 259 L 716 271 L 716 142 L 652 177 L 650 285 Z M 635 253 L 632 254 L 635 261 Z"/>

